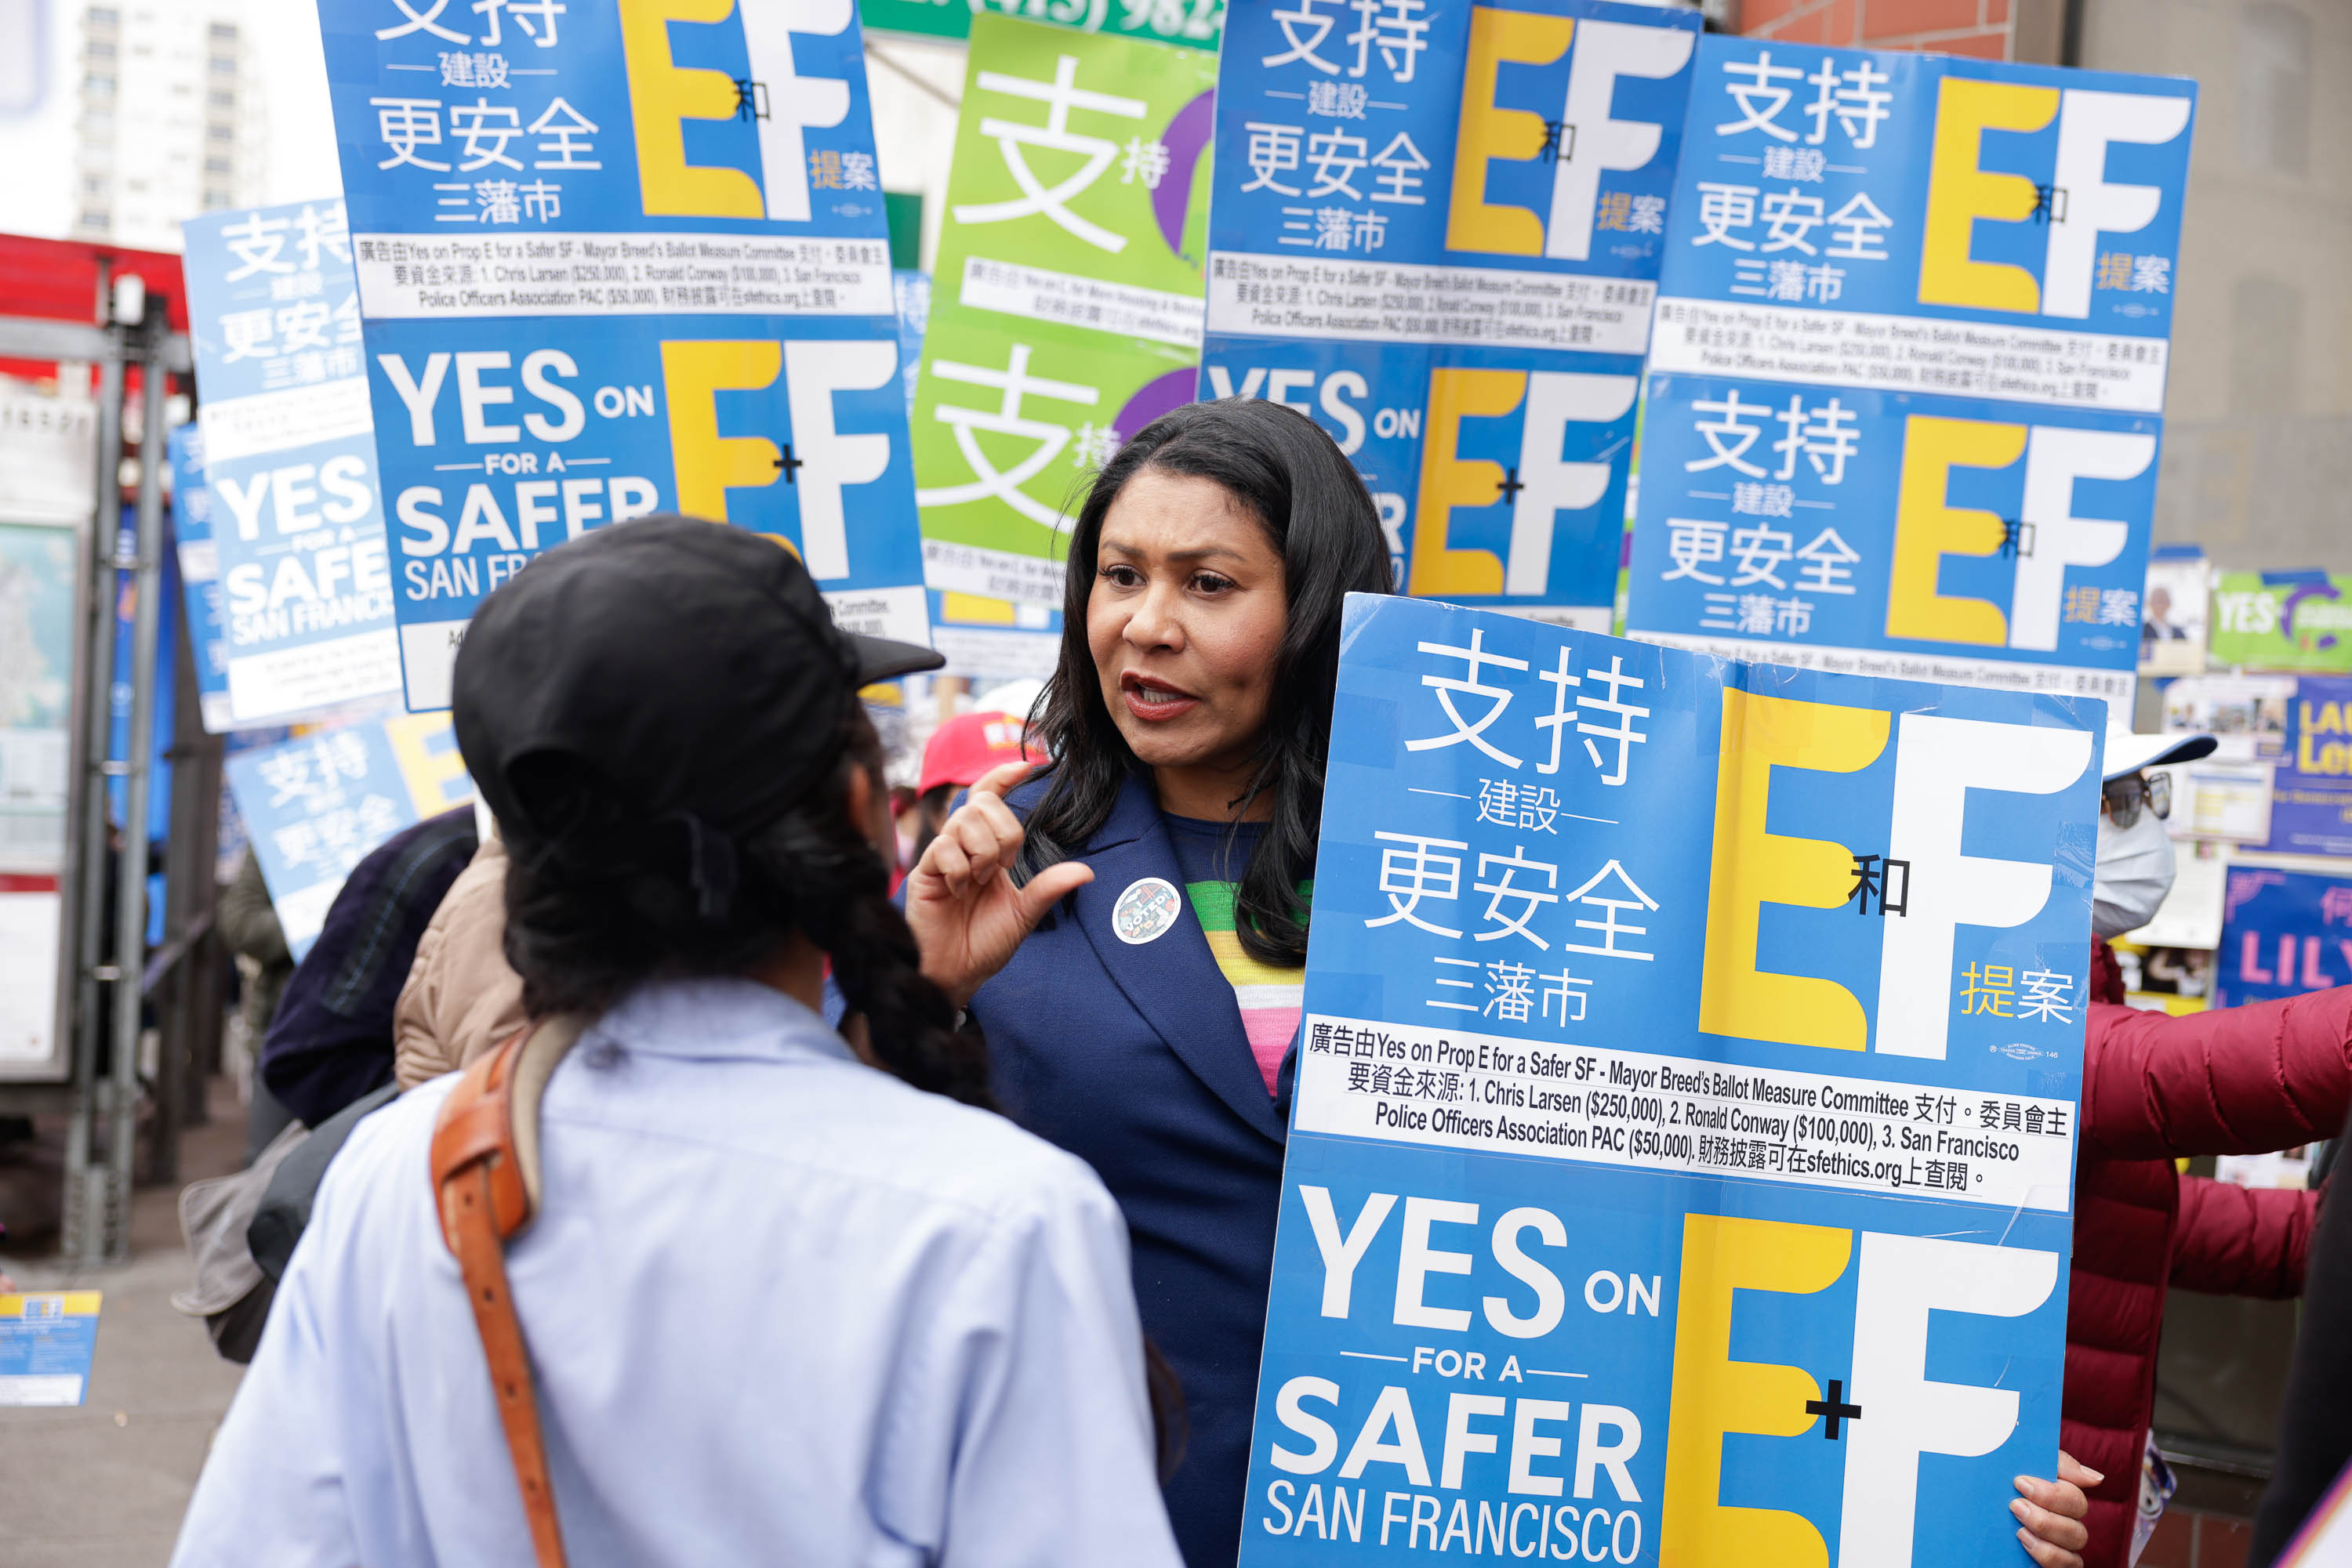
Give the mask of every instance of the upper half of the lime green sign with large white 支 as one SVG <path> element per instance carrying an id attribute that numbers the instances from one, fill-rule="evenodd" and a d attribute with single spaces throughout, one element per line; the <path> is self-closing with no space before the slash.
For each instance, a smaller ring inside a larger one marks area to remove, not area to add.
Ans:
<path id="1" fill-rule="evenodd" d="M 1197 355 L 1216 56 L 983 14 L 938 303 Z"/>

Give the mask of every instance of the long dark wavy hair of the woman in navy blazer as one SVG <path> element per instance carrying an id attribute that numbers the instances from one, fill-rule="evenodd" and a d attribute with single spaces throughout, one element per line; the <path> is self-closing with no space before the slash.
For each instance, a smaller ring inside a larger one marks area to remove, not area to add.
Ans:
<path id="1" fill-rule="evenodd" d="M 1289 623 L 1275 654 L 1258 769 L 1235 802 L 1247 813 L 1258 795 L 1272 795 L 1275 813 L 1240 877 L 1232 924 L 1249 957 L 1298 966 L 1308 959 L 1298 884 L 1315 875 L 1341 607 L 1350 592 L 1392 592 L 1395 571 L 1364 480 L 1322 425 L 1279 402 L 1185 404 L 1143 425 L 1094 477 L 1070 529 L 1061 661 L 1033 715 L 1054 769 L 1028 818 L 1025 863 L 1035 872 L 1084 849 L 1110 818 L 1120 785 L 1145 771 L 1103 705 L 1087 646 L 1087 597 L 1103 520 L 1127 482 L 1145 470 L 1214 480 L 1282 552 Z"/>

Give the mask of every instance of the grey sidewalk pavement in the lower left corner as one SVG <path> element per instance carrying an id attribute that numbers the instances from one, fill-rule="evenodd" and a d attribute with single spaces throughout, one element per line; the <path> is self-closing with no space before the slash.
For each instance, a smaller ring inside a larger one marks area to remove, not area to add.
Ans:
<path id="1" fill-rule="evenodd" d="M 188 1128 L 181 1178 L 226 1175 L 245 1157 L 245 1107 L 212 1084 L 212 1121 Z M 179 1190 L 132 1204 L 132 1262 L 68 1272 L 9 1260 L 24 1291 L 103 1291 L 89 1399 L 66 1410 L 0 1408 L 0 1561 L 7 1568 L 160 1568 L 228 1413 L 242 1368 L 205 1326 L 172 1309 L 191 1281 Z"/>

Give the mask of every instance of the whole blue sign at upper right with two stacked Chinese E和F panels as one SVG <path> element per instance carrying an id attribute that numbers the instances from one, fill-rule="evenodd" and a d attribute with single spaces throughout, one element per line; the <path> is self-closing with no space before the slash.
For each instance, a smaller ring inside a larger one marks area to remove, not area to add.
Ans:
<path id="1" fill-rule="evenodd" d="M 2192 101 L 1708 38 L 1628 628 L 2129 698 Z"/>

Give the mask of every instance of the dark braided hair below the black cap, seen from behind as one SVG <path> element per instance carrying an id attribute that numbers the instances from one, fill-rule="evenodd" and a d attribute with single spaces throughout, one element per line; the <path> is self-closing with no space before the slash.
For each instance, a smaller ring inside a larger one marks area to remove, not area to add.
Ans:
<path id="1" fill-rule="evenodd" d="M 529 820 L 501 830 L 506 961 L 524 1011 L 600 1013 L 640 980 L 741 973 L 800 933 L 833 959 L 877 1065 L 993 1105 L 985 1044 L 922 976 L 889 870 L 849 816 L 851 766 L 882 788 L 882 743 L 858 703 L 844 703 L 835 745 L 840 762 L 731 853 L 691 818 L 630 809 L 576 757 L 517 759 L 508 778 Z"/>

